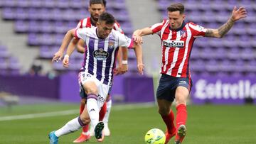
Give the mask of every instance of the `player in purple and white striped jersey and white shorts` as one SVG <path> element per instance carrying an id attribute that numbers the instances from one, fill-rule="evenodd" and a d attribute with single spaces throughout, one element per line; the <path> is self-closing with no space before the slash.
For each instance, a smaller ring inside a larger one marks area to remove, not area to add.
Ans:
<path id="1" fill-rule="evenodd" d="M 114 17 L 110 13 L 102 13 L 96 28 L 72 29 L 66 33 L 61 47 L 67 47 L 70 40 L 78 43 L 77 38 L 85 40 L 87 52 L 80 70 L 79 81 L 87 96 L 86 109 L 77 118 L 74 118 L 57 131 L 52 131 L 48 136 L 50 144 L 58 144 L 58 138 L 62 135 L 78 131 L 82 126 L 91 123 L 95 130 L 95 138 L 102 142 L 104 139 L 104 123 L 99 121 L 99 111 L 104 104 L 107 92 L 112 82 L 114 62 L 118 48 L 128 48 L 134 45 L 137 56 L 137 69 L 140 74 L 144 70 L 142 63 L 142 47 L 133 43 L 127 36 L 118 31 L 112 30 L 114 27 Z M 73 38 L 75 37 L 75 39 Z M 72 49 L 72 48 L 71 48 Z M 68 67 L 69 57 L 73 50 L 68 48 L 64 57 L 63 65 Z"/>

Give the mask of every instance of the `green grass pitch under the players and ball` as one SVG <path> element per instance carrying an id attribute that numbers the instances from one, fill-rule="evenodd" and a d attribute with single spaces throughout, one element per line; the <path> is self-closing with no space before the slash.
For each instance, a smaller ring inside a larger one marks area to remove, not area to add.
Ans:
<path id="1" fill-rule="evenodd" d="M 165 131 L 164 122 L 156 106 L 113 106 L 110 114 L 111 136 L 105 144 L 144 144 L 144 134 L 151 128 Z M 127 107 L 124 107 L 127 108 Z M 4 116 L 18 116 L 29 113 L 45 113 L 77 109 L 79 104 L 41 104 L 14 106 L 11 110 L 0 107 L 0 120 Z M 174 111 L 174 107 L 172 108 Z M 188 133 L 184 144 L 255 144 L 256 107 L 203 105 L 188 106 Z M 49 143 L 48 133 L 63 126 L 78 116 L 50 116 L 19 120 L 0 121 L 0 144 L 38 144 Z M 80 131 L 64 135 L 60 144 L 72 143 Z M 97 143 L 91 138 L 86 143 Z M 172 139 L 169 143 L 174 143 Z"/>

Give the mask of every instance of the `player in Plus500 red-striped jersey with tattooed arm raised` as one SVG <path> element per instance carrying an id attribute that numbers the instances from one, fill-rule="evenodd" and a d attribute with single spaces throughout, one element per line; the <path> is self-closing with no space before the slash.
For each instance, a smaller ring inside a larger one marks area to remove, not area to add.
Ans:
<path id="1" fill-rule="evenodd" d="M 246 17 L 245 8 L 234 7 L 228 21 L 218 29 L 209 29 L 195 23 L 185 23 L 183 4 L 171 4 L 167 8 L 168 20 L 156 23 L 149 28 L 134 31 L 134 41 L 142 43 L 142 36 L 157 33 L 161 38 L 162 65 L 161 79 L 156 92 L 159 113 L 166 124 L 166 143 L 175 136 L 175 143 L 182 143 L 186 135 L 186 99 L 192 82 L 189 71 L 189 57 L 196 38 L 205 36 L 223 38 L 235 21 Z M 171 104 L 176 99 L 176 126 Z"/>

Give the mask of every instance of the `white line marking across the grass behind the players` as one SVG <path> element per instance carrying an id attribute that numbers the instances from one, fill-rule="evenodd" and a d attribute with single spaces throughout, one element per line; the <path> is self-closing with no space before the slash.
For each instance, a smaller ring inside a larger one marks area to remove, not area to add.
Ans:
<path id="1" fill-rule="evenodd" d="M 113 111 L 122 111 L 125 109 L 139 109 L 139 108 L 149 108 L 154 106 L 154 103 L 146 103 L 146 104 L 125 104 L 125 105 L 118 105 L 113 106 Z M 33 113 L 33 114 L 23 114 L 18 116 L 1 116 L 0 121 L 12 121 L 12 120 L 20 120 L 20 119 L 28 119 L 28 118 L 45 118 L 51 116 L 67 116 L 77 113 L 78 109 L 72 109 L 67 111 L 54 111 L 54 112 L 47 112 L 47 113 Z"/>

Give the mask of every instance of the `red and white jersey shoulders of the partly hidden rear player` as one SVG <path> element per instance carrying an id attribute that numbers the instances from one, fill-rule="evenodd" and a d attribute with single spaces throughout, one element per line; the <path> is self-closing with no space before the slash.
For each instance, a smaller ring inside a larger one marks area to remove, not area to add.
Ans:
<path id="1" fill-rule="evenodd" d="M 95 23 L 92 23 L 90 17 L 87 17 L 80 20 L 76 28 L 92 28 L 92 27 L 95 27 Z M 124 31 L 122 31 L 122 28 L 119 25 L 119 23 L 117 23 L 117 21 L 114 23 L 113 29 L 115 31 L 119 31 L 120 33 L 124 33 Z"/>

